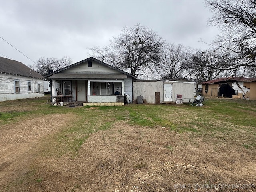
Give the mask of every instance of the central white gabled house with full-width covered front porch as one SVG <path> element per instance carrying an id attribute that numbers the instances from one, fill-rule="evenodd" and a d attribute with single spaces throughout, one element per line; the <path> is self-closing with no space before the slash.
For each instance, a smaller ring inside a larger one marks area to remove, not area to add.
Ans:
<path id="1" fill-rule="evenodd" d="M 132 98 L 136 76 L 90 57 L 51 72 L 46 78 L 51 80 L 52 97 L 70 96 L 72 102 L 83 105 L 123 105 L 125 98 Z"/>

